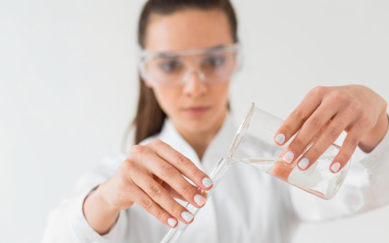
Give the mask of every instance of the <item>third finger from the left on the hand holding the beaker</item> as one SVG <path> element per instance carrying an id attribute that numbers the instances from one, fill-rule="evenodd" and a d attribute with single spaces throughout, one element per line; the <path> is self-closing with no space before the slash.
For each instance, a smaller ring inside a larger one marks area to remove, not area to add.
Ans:
<path id="1" fill-rule="evenodd" d="M 315 143 L 304 153 L 297 162 L 301 170 L 307 170 L 335 142 L 339 135 L 350 123 L 347 113 L 337 115 L 330 122 Z"/>

